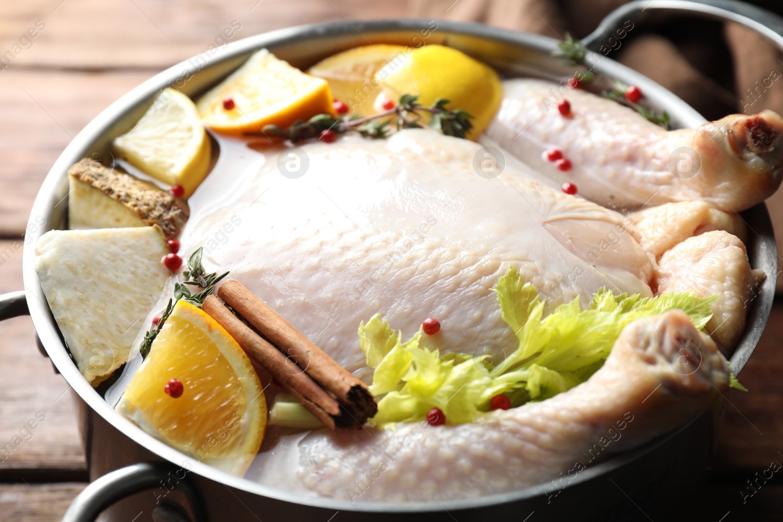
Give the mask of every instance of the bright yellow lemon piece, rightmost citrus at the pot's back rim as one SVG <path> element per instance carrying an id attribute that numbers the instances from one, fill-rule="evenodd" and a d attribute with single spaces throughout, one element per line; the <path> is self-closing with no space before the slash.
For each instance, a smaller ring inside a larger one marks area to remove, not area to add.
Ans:
<path id="1" fill-rule="evenodd" d="M 444 45 L 425 45 L 413 50 L 401 63 L 391 62 L 375 75 L 383 94 L 395 103 L 403 94 L 418 95 L 418 102 L 431 106 L 438 98 L 449 99 L 447 109 L 464 109 L 474 116 L 465 136 L 475 139 L 492 121 L 503 98 L 503 85 L 492 67 L 464 52 Z"/>

